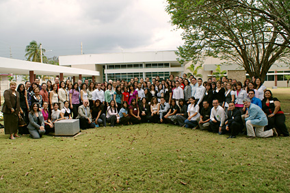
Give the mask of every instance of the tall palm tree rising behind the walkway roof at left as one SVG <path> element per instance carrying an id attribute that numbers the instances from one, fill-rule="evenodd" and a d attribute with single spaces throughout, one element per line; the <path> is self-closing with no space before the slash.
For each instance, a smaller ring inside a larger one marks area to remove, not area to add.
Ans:
<path id="1" fill-rule="evenodd" d="M 32 40 L 29 45 L 25 49 L 25 57 L 27 57 L 27 61 L 32 62 L 41 62 L 40 60 L 40 44 L 37 44 L 35 40 Z M 45 58 L 43 53 L 45 52 L 45 49 L 42 49 L 42 58 Z"/>

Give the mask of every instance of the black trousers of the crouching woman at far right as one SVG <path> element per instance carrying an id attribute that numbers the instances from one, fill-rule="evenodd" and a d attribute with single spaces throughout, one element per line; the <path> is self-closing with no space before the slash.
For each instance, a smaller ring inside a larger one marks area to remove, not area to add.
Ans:
<path id="1" fill-rule="evenodd" d="M 278 135 L 289 136 L 289 131 L 285 125 L 285 114 L 275 114 L 271 118 L 268 117 L 267 129 L 273 128 L 277 130 Z"/>

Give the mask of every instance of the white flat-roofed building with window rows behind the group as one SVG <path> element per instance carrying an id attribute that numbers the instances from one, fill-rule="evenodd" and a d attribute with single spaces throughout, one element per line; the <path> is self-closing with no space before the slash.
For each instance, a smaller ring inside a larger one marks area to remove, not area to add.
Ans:
<path id="1" fill-rule="evenodd" d="M 86 70 L 96 70 L 100 76 L 96 81 L 108 81 L 109 79 L 129 80 L 133 77 L 152 79 L 157 75 L 163 79 L 168 78 L 170 74 L 181 76 L 183 73 L 189 73 L 187 67 L 192 64 L 180 64 L 176 58 L 175 51 L 140 51 L 140 52 L 122 52 L 122 53 L 101 53 L 84 55 L 64 55 L 60 56 L 61 66 L 70 66 Z M 222 64 L 218 58 L 208 57 L 202 65 L 202 74 L 204 80 L 212 76 L 216 65 Z M 222 70 L 227 70 L 228 78 L 244 81 L 246 71 L 237 65 L 222 65 Z M 238 78 L 237 77 L 241 77 Z M 290 75 L 290 70 L 285 64 L 273 65 L 271 71 L 267 74 L 266 86 L 286 87 L 287 81 L 284 75 Z"/>

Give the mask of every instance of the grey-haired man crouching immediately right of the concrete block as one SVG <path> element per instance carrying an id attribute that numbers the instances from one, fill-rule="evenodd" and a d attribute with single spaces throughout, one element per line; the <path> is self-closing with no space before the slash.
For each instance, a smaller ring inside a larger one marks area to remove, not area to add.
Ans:
<path id="1" fill-rule="evenodd" d="M 94 128 L 88 99 L 83 100 L 83 105 L 79 106 L 77 118 L 79 118 L 79 127 L 81 129 Z"/>

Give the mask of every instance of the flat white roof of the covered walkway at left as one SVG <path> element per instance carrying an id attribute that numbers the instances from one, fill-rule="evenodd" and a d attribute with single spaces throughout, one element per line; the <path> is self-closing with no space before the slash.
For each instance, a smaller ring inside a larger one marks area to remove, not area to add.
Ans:
<path id="1" fill-rule="evenodd" d="M 100 72 L 94 70 L 84 70 L 81 68 L 70 68 L 66 66 L 0 57 L 0 73 L 29 75 L 29 71 L 31 70 L 33 70 L 36 75 L 54 76 L 60 75 L 60 73 L 63 73 L 66 77 L 78 75 L 82 75 L 82 77 L 91 77 L 100 75 Z"/>

